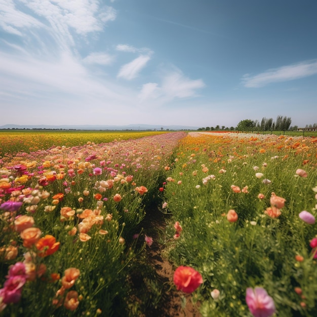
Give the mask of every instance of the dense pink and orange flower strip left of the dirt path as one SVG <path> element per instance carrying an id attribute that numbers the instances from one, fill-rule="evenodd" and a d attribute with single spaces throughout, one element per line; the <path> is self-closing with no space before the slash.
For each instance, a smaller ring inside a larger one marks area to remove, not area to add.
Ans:
<path id="1" fill-rule="evenodd" d="M 7 155 L 0 162 L 3 314 L 128 315 L 127 276 L 152 243 L 138 224 L 183 136 Z"/>

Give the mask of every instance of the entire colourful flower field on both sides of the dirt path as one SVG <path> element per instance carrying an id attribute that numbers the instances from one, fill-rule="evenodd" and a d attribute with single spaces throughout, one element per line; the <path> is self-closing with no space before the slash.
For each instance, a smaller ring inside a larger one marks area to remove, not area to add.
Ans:
<path id="1" fill-rule="evenodd" d="M 317 139 L 153 134 L 76 144 L 60 133 L 37 149 L 0 134 L 2 315 L 139 316 L 155 306 L 142 228 L 150 206 L 168 215 L 172 287 L 202 316 L 317 315 Z"/>

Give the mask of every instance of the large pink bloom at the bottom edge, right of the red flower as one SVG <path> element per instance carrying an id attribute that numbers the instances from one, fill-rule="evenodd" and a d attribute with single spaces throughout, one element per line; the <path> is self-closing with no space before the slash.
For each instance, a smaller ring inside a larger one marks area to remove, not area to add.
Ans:
<path id="1" fill-rule="evenodd" d="M 269 317 L 275 312 L 275 304 L 261 287 L 247 288 L 246 302 L 254 317 Z"/>

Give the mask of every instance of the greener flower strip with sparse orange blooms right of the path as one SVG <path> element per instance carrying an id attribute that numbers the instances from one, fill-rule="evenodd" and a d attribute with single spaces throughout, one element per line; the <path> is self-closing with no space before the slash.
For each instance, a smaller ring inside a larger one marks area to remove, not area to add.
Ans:
<path id="1" fill-rule="evenodd" d="M 316 141 L 182 139 L 164 189 L 166 251 L 202 274 L 203 316 L 317 315 Z"/>

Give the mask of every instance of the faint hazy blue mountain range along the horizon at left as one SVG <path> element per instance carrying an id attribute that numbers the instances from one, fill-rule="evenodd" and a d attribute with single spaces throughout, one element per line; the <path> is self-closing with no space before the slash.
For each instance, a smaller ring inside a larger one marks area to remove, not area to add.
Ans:
<path id="1" fill-rule="evenodd" d="M 111 125 L 62 125 L 62 126 L 53 126 L 53 125 L 4 125 L 0 126 L 0 129 L 47 129 L 47 130 L 197 130 L 199 127 L 190 127 L 190 126 L 165 126 L 165 125 L 126 125 L 126 126 L 111 126 Z"/>

